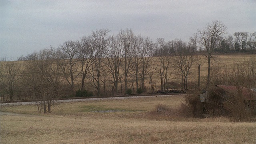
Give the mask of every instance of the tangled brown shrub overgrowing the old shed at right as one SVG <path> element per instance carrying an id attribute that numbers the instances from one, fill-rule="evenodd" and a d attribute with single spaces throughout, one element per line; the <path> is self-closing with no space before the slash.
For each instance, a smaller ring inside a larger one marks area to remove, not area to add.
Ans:
<path id="1" fill-rule="evenodd" d="M 255 108 L 249 107 L 241 90 L 224 91 L 221 88 L 209 89 L 209 102 L 204 104 L 206 113 L 210 116 L 228 116 L 236 122 L 255 121 Z M 252 92 L 252 95 L 255 93 Z M 250 103 L 255 105 L 254 103 Z"/>

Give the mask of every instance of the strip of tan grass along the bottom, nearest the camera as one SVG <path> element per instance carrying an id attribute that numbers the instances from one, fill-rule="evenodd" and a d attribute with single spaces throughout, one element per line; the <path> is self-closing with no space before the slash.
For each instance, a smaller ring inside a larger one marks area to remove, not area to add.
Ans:
<path id="1" fill-rule="evenodd" d="M 1 144 L 255 143 L 254 123 L 1 116 Z"/>

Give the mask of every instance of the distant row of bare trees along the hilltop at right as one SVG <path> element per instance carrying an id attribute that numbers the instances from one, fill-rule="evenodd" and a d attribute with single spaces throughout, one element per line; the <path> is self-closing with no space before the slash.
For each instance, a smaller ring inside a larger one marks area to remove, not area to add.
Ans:
<path id="1" fill-rule="evenodd" d="M 218 21 L 216 21 L 218 22 Z M 221 23 L 217 24 L 220 25 Z M 223 25 L 223 24 L 222 24 Z M 215 26 L 217 28 L 217 26 Z M 208 28 L 214 28 L 213 24 L 210 24 Z M 204 52 L 206 51 L 205 42 L 204 42 L 204 36 L 203 33 L 207 29 L 199 30 L 198 33 L 194 33 L 193 36 L 190 37 L 190 41 L 188 42 L 188 46 L 190 47 L 191 52 Z M 208 29 L 211 34 L 214 34 L 214 30 Z M 234 52 L 246 52 L 250 54 L 256 53 L 256 32 L 248 33 L 248 32 L 235 32 L 234 37 L 232 35 L 224 36 L 226 32 L 225 25 L 222 26 L 221 29 L 217 30 L 218 32 L 221 32 L 221 35 L 214 38 L 214 47 L 213 52 L 219 52 L 219 53 L 234 53 Z M 163 39 L 158 39 L 158 42 L 162 41 Z M 162 55 L 173 55 L 178 50 L 175 47 L 177 40 L 172 40 L 166 42 L 166 45 L 163 47 L 156 49 L 154 51 L 154 56 L 162 56 Z"/>

